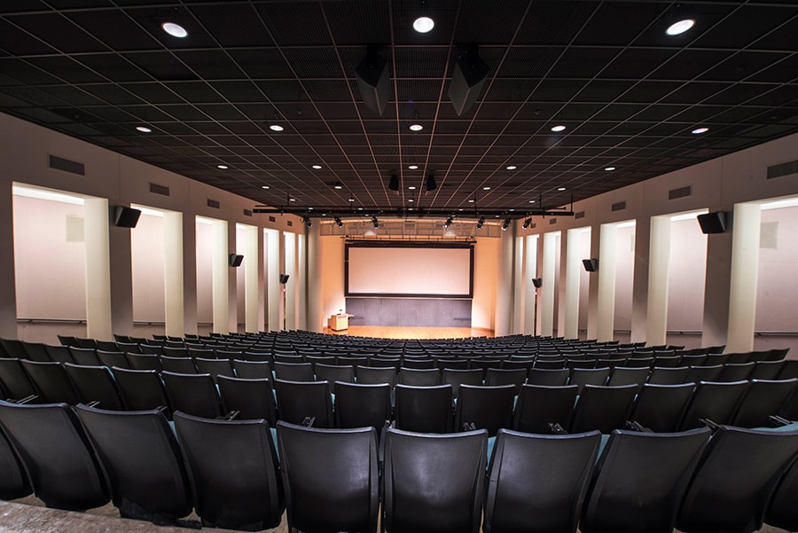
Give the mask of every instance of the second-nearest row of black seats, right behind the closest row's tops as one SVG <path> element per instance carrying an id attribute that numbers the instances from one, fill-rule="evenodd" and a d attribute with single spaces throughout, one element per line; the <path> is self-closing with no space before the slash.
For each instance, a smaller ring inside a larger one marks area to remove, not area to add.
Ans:
<path id="1" fill-rule="evenodd" d="M 328 380 L 313 380 L 319 374 L 286 380 L 279 363 L 274 379 L 268 363 L 234 360 L 231 366 L 224 362 L 234 372 L 197 373 L 196 367 L 192 372 L 157 372 L 2 359 L 0 385 L 5 397 L 26 402 L 33 397 L 41 403 L 98 403 L 119 411 L 164 407 L 167 415 L 182 411 L 207 418 L 239 412 L 240 418 L 263 418 L 272 424 L 278 419 L 292 423 L 316 419 L 317 427 L 381 427 L 385 420 L 395 419 L 397 427 L 430 433 L 472 426 L 487 428 L 490 435 L 511 427 L 544 433 L 556 423 L 572 432 L 599 429 L 607 434 L 624 427 L 627 420 L 669 432 L 699 427 L 699 419 L 740 427 L 766 426 L 772 415 L 798 419 L 796 378 L 699 381 L 698 385 L 645 381 L 565 385 L 564 381 L 512 382 L 508 378 L 515 371 L 496 370 L 489 371 L 486 386 L 481 376 L 472 382 L 463 379 L 474 375 L 472 371 L 444 370 L 449 383 L 439 385 L 440 373 L 434 370 L 396 374 L 393 368 L 357 367 L 359 380 L 354 382 L 354 369 L 348 367 L 348 380 L 333 374 Z M 309 370 L 309 365 L 303 368 Z M 324 370 L 317 364 L 317 372 Z M 437 380 L 407 383 L 408 376 L 418 377 L 416 372 L 424 376 L 433 372 Z M 538 372 L 549 372 L 544 374 L 548 377 L 558 371 Z M 397 375 L 403 382 L 396 384 Z M 529 381 L 534 375 L 529 374 Z"/>

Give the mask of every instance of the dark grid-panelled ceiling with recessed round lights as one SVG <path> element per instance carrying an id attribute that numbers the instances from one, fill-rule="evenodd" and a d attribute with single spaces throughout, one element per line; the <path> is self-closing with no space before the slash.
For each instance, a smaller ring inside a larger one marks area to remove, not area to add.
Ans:
<path id="1" fill-rule="evenodd" d="M 458 116 L 470 43 L 489 71 Z M 796 48 L 794 0 L 3 0 L 0 110 L 273 207 L 523 211 L 798 131 Z"/>

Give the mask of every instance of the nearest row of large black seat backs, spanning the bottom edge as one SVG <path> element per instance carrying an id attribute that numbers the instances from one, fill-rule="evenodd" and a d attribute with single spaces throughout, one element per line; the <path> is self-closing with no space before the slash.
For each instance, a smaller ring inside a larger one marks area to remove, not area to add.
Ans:
<path id="1" fill-rule="evenodd" d="M 203 525 L 389 533 L 798 528 L 798 430 L 535 435 L 324 429 L 0 402 L 0 498 Z M 58 435 L 58 438 L 53 438 Z M 7 440 L 6 440 L 7 439 Z M 179 522 L 178 522 L 179 523 Z"/>

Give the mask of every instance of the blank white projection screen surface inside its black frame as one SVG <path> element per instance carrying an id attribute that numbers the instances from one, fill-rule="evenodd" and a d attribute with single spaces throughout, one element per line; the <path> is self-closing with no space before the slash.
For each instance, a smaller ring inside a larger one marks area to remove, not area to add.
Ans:
<path id="1" fill-rule="evenodd" d="M 471 295 L 468 247 L 348 247 L 349 295 Z"/>

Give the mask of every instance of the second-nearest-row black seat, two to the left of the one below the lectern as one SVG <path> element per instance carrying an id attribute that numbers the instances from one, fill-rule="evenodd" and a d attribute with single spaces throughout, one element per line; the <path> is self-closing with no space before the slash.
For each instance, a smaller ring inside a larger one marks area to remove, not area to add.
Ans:
<path id="1" fill-rule="evenodd" d="M 239 412 L 238 419 L 265 419 L 277 424 L 277 404 L 272 380 L 232 378 L 220 375 L 216 384 L 222 396 L 223 412 Z"/>

